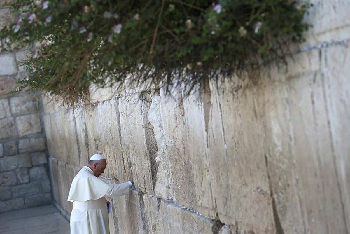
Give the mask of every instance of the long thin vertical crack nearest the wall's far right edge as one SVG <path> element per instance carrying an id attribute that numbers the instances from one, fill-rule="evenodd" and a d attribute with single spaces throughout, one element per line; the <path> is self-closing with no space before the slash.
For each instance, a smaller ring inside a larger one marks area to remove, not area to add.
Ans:
<path id="1" fill-rule="evenodd" d="M 324 50 L 324 66 L 326 68 L 326 70 L 328 70 L 328 60 L 327 60 L 327 50 Z M 329 107 L 328 105 L 325 105 L 326 108 L 326 112 L 327 112 L 327 116 L 328 116 L 328 129 L 329 129 L 329 136 L 330 136 L 330 143 L 331 143 L 331 151 L 332 151 L 332 158 L 333 158 L 333 165 L 334 165 L 334 170 L 335 170 L 335 176 L 336 176 L 336 181 L 337 181 L 337 187 L 338 187 L 338 191 L 339 191 L 339 196 L 340 196 L 340 202 L 341 202 L 341 206 L 342 206 L 342 216 L 343 216 L 343 220 L 344 220 L 344 225 L 345 225 L 345 230 L 346 230 L 346 234 L 348 234 L 348 224 L 346 223 L 346 215 L 345 215 L 345 206 L 344 206 L 344 202 L 343 202 L 343 195 L 342 195 L 342 190 L 341 190 L 341 186 L 340 186 L 340 180 L 339 180 L 339 172 L 338 172 L 338 168 L 337 168 L 337 155 L 335 152 L 335 147 L 334 147 L 334 142 L 337 142 L 336 136 L 333 136 L 332 134 L 332 126 L 331 123 L 335 122 L 335 113 L 334 113 L 334 106 L 332 103 L 332 95 L 330 93 L 330 77 L 329 74 L 327 73 L 327 75 L 325 76 L 326 80 L 327 80 L 327 89 L 329 90 Z M 323 88 L 323 98 L 324 100 L 327 100 L 327 94 L 326 94 L 326 84 L 325 81 L 322 80 L 322 88 Z M 335 124 L 335 123 L 334 123 Z"/>

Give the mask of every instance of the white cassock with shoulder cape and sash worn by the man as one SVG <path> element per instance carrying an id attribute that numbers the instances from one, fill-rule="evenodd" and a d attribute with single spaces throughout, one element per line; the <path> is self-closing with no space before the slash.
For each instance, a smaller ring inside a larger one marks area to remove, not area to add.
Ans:
<path id="1" fill-rule="evenodd" d="M 74 177 L 67 199 L 73 202 L 71 234 L 109 234 L 105 197 L 126 195 L 130 187 L 130 182 L 106 184 L 89 167 L 84 166 Z"/>

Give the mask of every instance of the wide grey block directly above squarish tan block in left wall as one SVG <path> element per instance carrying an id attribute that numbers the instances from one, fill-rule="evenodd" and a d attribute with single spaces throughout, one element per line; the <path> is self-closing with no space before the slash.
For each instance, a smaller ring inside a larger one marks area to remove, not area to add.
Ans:
<path id="1" fill-rule="evenodd" d="M 23 95 L 10 98 L 10 106 L 13 115 L 36 112 L 39 110 L 39 104 L 38 96 Z"/>

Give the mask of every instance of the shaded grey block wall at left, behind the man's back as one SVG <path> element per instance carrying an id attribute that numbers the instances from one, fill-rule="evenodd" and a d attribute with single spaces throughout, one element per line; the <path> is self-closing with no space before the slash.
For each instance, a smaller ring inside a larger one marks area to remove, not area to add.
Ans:
<path id="1" fill-rule="evenodd" d="M 2 5 L 0 28 L 11 19 Z M 17 66 L 26 51 L 0 52 L 0 212 L 52 203 L 41 95 L 11 93 L 26 76 Z"/>

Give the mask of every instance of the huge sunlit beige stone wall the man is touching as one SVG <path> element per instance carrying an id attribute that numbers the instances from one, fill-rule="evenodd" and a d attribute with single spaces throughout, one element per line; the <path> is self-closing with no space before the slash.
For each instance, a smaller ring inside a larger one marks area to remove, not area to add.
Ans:
<path id="1" fill-rule="evenodd" d="M 285 67 L 189 96 L 91 87 L 91 105 L 44 99 L 55 205 L 94 153 L 113 198 L 111 233 L 349 233 L 350 1 L 313 0 L 314 25 Z M 250 76 L 250 77 L 247 77 Z"/>

